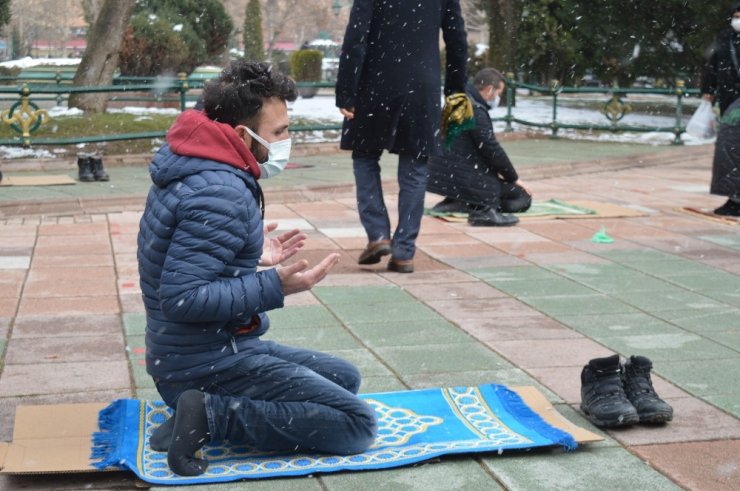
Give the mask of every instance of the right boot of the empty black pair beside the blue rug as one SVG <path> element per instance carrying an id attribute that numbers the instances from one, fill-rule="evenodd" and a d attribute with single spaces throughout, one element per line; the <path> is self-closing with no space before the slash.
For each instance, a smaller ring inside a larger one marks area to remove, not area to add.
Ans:
<path id="1" fill-rule="evenodd" d="M 652 368 L 648 358 L 630 356 L 623 368 L 624 391 L 637 409 L 640 423 L 666 423 L 673 419 L 673 408 L 655 393 Z"/>

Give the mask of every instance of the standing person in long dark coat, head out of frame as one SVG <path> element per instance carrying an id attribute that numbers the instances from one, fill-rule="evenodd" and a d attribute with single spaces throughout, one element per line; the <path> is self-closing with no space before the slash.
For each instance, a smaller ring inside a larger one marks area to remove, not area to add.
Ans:
<path id="1" fill-rule="evenodd" d="M 467 38 L 459 0 L 352 5 L 336 104 L 345 117 L 341 148 L 352 150 L 357 206 L 368 236 L 360 264 L 376 264 L 391 254 L 390 271 L 414 270 L 426 163 L 439 131 L 440 29 L 447 54 L 445 94 L 463 92 Z M 399 155 L 399 216 L 392 236 L 378 163 L 383 150 Z"/>

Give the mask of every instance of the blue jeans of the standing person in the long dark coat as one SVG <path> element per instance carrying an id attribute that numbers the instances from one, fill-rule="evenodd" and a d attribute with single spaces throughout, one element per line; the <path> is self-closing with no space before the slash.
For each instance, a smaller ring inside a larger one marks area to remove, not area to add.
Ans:
<path id="1" fill-rule="evenodd" d="M 380 155 L 352 153 L 360 222 L 369 242 L 391 239 L 394 258 L 412 259 L 424 214 L 427 161 L 409 155 L 398 156 L 398 225 L 391 237 L 391 221 L 380 182 Z"/>

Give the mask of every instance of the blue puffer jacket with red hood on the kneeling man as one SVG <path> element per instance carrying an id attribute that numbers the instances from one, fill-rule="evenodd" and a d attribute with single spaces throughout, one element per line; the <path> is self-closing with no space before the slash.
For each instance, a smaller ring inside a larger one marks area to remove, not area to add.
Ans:
<path id="1" fill-rule="evenodd" d="M 146 364 L 155 380 L 228 369 L 283 305 L 275 269 L 257 271 L 264 240 L 260 171 L 228 125 L 183 113 L 150 164 L 138 236 Z"/>

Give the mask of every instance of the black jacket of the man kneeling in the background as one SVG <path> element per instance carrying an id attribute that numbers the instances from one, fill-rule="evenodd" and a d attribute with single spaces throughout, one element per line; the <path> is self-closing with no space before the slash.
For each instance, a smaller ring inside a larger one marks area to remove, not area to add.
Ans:
<path id="1" fill-rule="evenodd" d="M 514 183 L 519 176 L 496 140 L 488 114 L 491 106 L 472 85 L 466 92 L 473 100 L 475 128 L 455 138 L 443 155 L 429 159 L 427 190 L 468 203 L 488 204 L 491 193 L 500 188 L 493 180 Z"/>

